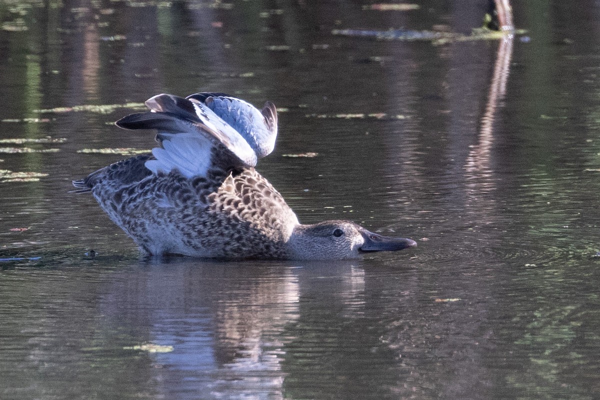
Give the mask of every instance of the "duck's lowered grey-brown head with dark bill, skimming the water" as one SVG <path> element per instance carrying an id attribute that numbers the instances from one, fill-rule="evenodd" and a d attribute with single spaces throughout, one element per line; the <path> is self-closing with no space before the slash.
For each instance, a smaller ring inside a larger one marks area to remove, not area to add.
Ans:
<path id="1" fill-rule="evenodd" d="M 415 240 L 382 236 L 350 221 L 297 225 L 288 242 L 292 258 L 334 260 L 358 258 L 364 252 L 396 251 L 416 246 Z"/>

